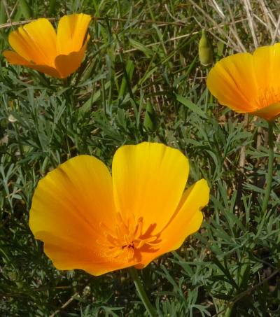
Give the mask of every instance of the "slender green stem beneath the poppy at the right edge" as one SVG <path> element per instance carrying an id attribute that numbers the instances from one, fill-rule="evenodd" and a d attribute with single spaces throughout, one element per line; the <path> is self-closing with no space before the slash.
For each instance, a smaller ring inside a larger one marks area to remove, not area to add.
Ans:
<path id="1" fill-rule="evenodd" d="M 273 174 L 273 160 L 274 160 L 274 151 L 273 151 L 273 121 L 268 122 L 268 170 L 267 170 L 267 188 L 265 189 L 265 198 L 262 202 L 262 213 L 265 213 L 267 210 L 267 204 L 270 197 L 270 191 L 272 187 L 272 174 Z"/>

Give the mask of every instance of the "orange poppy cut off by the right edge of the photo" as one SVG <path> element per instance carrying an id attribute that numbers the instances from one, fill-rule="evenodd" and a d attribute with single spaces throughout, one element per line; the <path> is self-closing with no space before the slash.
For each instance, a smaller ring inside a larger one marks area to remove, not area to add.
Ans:
<path id="1" fill-rule="evenodd" d="M 266 120 L 280 115 L 280 43 L 221 59 L 209 72 L 207 87 L 220 104 Z"/>

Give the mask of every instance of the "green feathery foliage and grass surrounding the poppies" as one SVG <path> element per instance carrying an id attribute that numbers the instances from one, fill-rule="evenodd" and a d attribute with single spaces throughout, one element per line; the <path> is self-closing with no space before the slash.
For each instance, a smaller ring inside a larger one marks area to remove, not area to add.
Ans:
<path id="1" fill-rule="evenodd" d="M 207 90 L 202 28 L 214 61 L 279 41 L 274 0 L 2 1 L 1 50 L 20 22 L 92 15 L 83 64 L 66 80 L 1 58 L 1 316 L 148 316 L 127 270 L 58 271 L 28 226 L 38 180 L 80 154 L 108 167 L 123 144 L 155 141 L 207 179 L 204 223 L 176 252 L 140 272 L 158 316 L 280 316 L 279 121 L 271 199 L 262 211 L 267 122 Z"/>

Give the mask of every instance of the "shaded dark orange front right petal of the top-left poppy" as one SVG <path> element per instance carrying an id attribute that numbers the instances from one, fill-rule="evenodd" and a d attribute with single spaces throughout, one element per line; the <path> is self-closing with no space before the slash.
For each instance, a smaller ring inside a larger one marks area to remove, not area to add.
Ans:
<path id="1" fill-rule="evenodd" d="M 87 41 L 89 38 L 90 36 L 88 36 Z M 69 55 L 59 55 L 56 57 L 55 67 L 59 71 L 60 78 L 68 77 L 80 67 L 85 55 L 85 49 L 87 48 L 87 41 L 78 52 L 71 52 Z"/>

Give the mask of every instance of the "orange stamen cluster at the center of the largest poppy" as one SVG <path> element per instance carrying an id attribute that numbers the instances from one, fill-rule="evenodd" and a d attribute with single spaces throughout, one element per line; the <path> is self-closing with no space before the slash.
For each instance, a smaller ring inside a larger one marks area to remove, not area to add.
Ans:
<path id="1" fill-rule="evenodd" d="M 109 258 L 123 258 L 134 260 L 141 258 L 141 249 L 156 246 L 160 241 L 151 234 L 151 230 L 143 232 L 143 218 L 135 219 L 134 215 L 124 220 L 120 213 L 116 216 L 116 226 L 111 230 L 102 223 L 105 239 L 99 239 L 98 244 L 104 247 L 104 252 Z"/>

